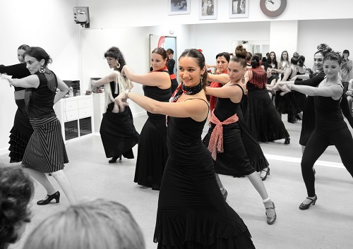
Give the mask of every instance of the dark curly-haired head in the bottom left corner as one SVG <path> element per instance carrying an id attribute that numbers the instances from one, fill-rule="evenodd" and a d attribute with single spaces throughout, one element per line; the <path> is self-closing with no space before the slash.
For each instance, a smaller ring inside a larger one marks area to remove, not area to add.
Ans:
<path id="1" fill-rule="evenodd" d="M 25 231 L 33 193 L 33 181 L 23 169 L 0 164 L 0 249 L 16 243 Z"/>

